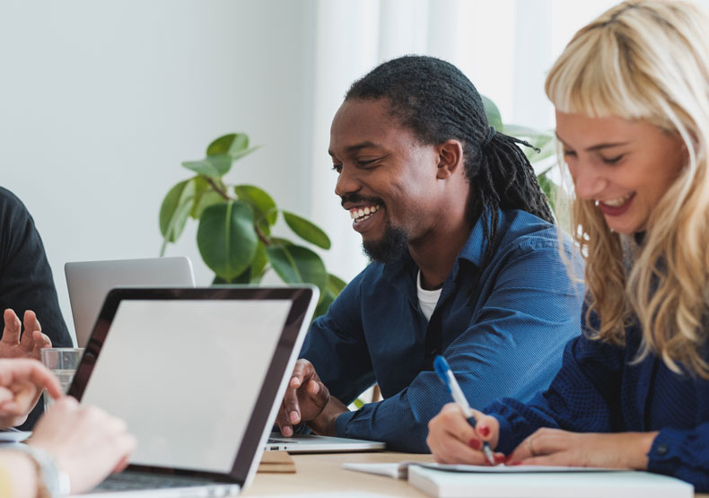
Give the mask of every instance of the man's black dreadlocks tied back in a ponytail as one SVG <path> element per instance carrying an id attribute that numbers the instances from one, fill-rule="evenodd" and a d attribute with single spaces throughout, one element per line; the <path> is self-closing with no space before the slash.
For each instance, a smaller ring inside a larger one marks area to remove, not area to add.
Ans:
<path id="1" fill-rule="evenodd" d="M 423 144 L 460 141 L 470 182 L 468 223 L 483 217 L 484 266 L 495 252 L 498 208 L 521 209 L 554 223 L 547 197 L 518 144 L 490 127 L 483 100 L 456 66 L 435 57 L 405 56 L 375 67 L 352 84 L 345 100 L 385 99 L 392 118 Z"/>

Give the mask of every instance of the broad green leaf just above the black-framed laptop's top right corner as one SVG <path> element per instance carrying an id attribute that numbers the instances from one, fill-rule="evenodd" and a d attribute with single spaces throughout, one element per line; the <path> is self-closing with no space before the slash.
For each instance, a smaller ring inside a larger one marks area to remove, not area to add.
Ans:
<path id="1" fill-rule="evenodd" d="M 320 293 L 328 285 L 328 272 L 322 259 L 311 249 L 295 245 L 271 245 L 266 248 L 268 262 L 286 284 L 315 284 Z"/>

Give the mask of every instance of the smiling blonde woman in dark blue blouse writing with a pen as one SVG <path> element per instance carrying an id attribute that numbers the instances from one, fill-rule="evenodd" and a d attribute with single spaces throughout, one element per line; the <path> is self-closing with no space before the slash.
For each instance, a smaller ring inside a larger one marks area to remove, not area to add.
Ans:
<path id="1" fill-rule="evenodd" d="M 495 401 L 475 430 L 445 406 L 427 442 L 441 462 L 483 464 L 489 441 L 510 463 L 709 491 L 709 18 L 619 4 L 576 33 L 546 91 L 586 259 L 582 335 L 546 392 Z"/>

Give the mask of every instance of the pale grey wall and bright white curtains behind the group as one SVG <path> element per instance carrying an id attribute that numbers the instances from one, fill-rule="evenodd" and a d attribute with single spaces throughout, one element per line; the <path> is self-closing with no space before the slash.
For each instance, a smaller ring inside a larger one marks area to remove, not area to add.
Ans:
<path id="1" fill-rule="evenodd" d="M 612 4 L 0 0 L 0 185 L 34 216 L 70 329 L 66 261 L 158 256 L 162 198 L 192 176 L 180 162 L 230 132 L 263 147 L 227 179 L 318 223 L 328 271 L 347 281 L 367 261 L 327 150 L 349 85 L 392 57 L 442 57 L 505 123 L 550 129 L 545 74 Z M 167 255 L 191 258 L 206 285 L 196 232 L 190 221 Z"/>

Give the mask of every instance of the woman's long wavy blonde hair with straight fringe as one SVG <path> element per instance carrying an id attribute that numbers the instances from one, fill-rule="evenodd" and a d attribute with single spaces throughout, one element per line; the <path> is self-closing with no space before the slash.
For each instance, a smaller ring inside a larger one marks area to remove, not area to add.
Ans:
<path id="1" fill-rule="evenodd" d="M 681 363 L 708 379 L 709 18 L 687 2 L 618 4 L 576 33 L 545 90 L 559 111 L 641 120 L 684 142 L 687 163 L 652 210 L 632 266 L 592 200 L 573 198 L 573 236 L 586 258 L 586 323 L 600 319 L 591 336 L 624 345 L 637 319 L 636 361 L 658 354 L 672 371 Z"/>

